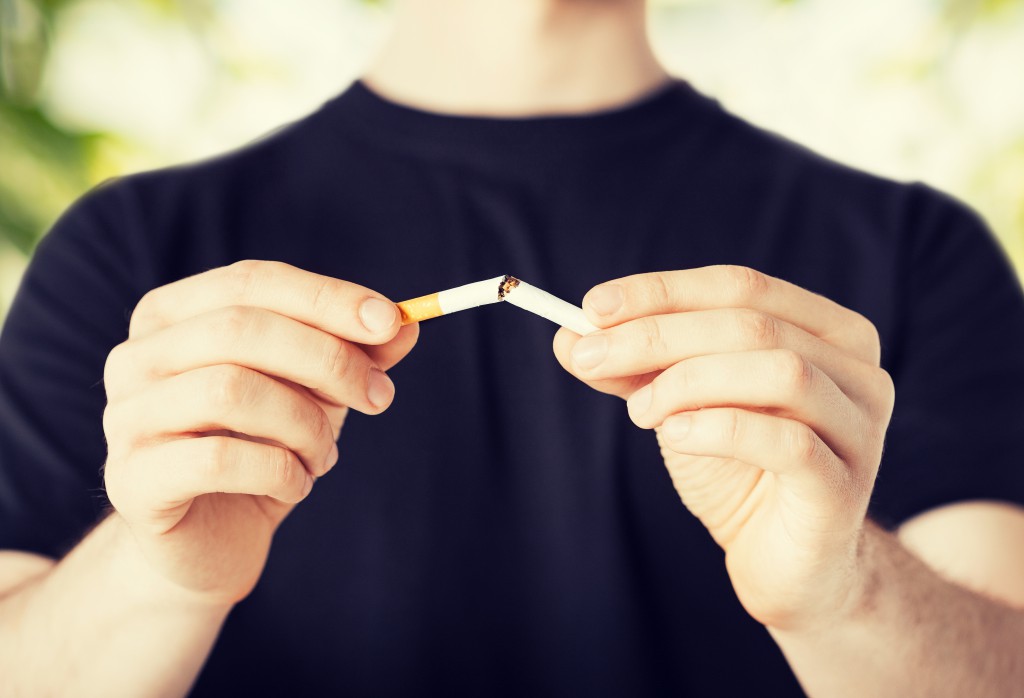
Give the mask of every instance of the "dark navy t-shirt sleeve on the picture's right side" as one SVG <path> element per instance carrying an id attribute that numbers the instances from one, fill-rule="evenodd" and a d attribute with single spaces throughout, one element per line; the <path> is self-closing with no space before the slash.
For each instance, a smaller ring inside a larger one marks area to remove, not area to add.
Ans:
<path id="1" fill-rule="evenodd" d="M 896 406 L 870 508 L 889 527 L 955 501 L 1024 505 L 1024 294 L 977 215 L 912 191 L 901 319 L 883 338 Z"/>

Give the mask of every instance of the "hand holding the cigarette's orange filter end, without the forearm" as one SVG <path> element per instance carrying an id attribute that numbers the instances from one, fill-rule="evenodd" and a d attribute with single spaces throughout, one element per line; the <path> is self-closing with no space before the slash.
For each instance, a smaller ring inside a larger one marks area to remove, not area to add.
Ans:
<path id="1" fill-rule="evenodd" d="M 212 603 L 255 585 L 278 525 L 377 415 L 416 344 L 393 303 L 279 262 L 156 289 L 104 370 L 106 493 L 148 564 Z"/>

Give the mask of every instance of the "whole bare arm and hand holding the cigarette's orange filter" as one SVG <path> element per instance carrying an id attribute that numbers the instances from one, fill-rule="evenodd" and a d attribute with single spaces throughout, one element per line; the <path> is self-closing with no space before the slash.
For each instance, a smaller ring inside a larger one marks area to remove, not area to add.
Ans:
<path id="1" fill-rule="evenodd" d="M 380 294 L 278 262 L 147 294 L 104 370 L 116 512 L 58 564 L 4 554 L 0 693 L 187 692 L 345 415 L 387 408 L 418 335 Z"/>

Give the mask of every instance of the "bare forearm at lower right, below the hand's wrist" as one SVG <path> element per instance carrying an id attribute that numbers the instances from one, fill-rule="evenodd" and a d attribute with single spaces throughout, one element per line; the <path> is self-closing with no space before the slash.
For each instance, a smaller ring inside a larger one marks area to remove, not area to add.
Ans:
<path id="1" fill-rule="evenodd" d="M 843 620 L 771 630 L 812 698 L 1004 696 L 1024 686 L 1024 612 L 945 581 L 868 523 Z"/>

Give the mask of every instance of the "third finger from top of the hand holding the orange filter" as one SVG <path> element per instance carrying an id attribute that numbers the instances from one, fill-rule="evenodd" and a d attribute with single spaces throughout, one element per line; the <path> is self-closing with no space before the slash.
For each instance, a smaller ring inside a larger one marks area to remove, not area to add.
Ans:
<path id="1" fill-rule="evenodd" d="M 103 413 L 108 441 L 131 446 L 228 430 L 295 452 L 314 476 L 337 460 L 334 431 L 313 401 L 263 374 L 234 364 L 205 366 L 161 381 Z"/>

